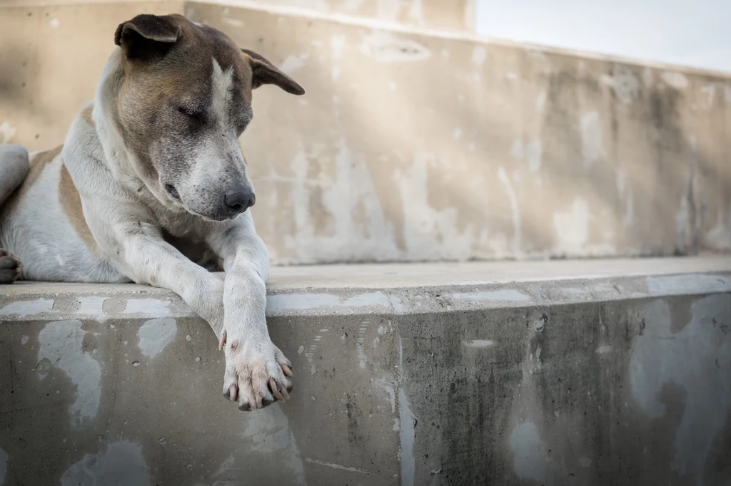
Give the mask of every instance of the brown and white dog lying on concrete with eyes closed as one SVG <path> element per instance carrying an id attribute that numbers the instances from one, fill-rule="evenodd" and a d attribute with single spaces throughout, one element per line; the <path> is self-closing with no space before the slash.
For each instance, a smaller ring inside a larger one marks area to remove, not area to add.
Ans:
<path id="1" fill-rule="evenodd" d="M 182 15 L 137 15 L 114 42 L 61 147 L 0 146 L 0 282 L 172 290 L 219 339 L 225 398 L 246 411 L 285 401 L 292 363 L 265 321 L 269 257 L 238 138 L 252 90 L 305 91 Z"/>

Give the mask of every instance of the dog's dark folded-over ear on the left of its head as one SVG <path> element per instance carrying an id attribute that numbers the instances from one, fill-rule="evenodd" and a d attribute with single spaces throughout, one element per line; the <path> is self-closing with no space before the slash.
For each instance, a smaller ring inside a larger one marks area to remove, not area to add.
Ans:
<path id="1" fill-rule="evenodd" d="M 172 15 L 142 14 L 119 24 L 114 43 L 128 59 L 150 60 L 167 53 L 180 34 L 180 26 Z"/>

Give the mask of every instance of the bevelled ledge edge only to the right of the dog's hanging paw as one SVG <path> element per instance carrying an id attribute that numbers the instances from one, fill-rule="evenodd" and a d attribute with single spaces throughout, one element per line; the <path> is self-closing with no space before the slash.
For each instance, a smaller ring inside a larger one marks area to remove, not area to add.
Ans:
<path id="1" fill-rule="evenodd" d="M 270 291 L 267 315 L 419 315 L 586 302 L 731 293 L 731 272 L 633 277 L 536 279 L 480 285 Z"/>

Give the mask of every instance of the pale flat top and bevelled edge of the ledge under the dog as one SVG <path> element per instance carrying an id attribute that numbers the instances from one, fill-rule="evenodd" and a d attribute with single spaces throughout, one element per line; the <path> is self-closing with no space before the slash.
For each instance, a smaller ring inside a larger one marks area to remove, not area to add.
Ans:
<path id="1" fill-rule="evenodd" d="M 730 272 L 731 256 L 273 267 L 267 315 L 409 315 L 701 295 L 731 291 Z M 197 318 L 175 293 L 146 285 L 17 282 L 1 290 L 7 321 L 161 312 Z"/>

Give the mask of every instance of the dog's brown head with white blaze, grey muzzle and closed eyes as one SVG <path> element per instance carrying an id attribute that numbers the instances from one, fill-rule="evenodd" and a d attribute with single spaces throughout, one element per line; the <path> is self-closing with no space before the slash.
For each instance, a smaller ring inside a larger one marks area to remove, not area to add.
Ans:
<path id="1" fill-rule="evenodd" d="M 251 121 L 251 90 L 303 88 L 221 31 L 182 15 L 137 15 L 114 36 L 123 74 L 114 122 L 148 190 L 166 207 L 211 220 L 254 204 L 238 137 Z"/>

